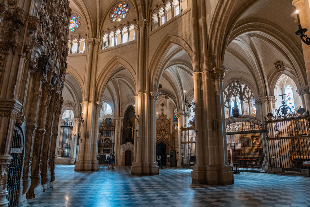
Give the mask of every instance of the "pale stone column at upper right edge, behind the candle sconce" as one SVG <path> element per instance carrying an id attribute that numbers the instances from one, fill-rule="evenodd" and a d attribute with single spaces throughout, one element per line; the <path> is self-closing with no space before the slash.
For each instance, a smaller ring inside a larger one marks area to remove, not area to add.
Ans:
<path id="1" fill-rule="evenodd" d="M 298 10 L 299 13 L 299 18 L 300 18 L 300 24 L 303 28 L 308 28 L 308 20 L 307 20 L 307 14 L 306 14 L 306 9 L 305 9 L 305 4 L 304 0 L 293 0 L 292 1 L 293 6 L 296 7 L 296 10 Z M 296 31 L 298 30 L 297 23 L 296 23 Z M 309 37 L 309 30 L 305 33 Z M 301 45 L 303 47 L 303 58 L 305 61 L 305 66 L 306 66 L 306 74 L 307 74 L 307 79 L 308 79 L 308 87 L 310 87 L 310 47 L 309 45 L 305 44 L 301 41 Z M 309 109 L 309 108 L 307 108 Z"/>

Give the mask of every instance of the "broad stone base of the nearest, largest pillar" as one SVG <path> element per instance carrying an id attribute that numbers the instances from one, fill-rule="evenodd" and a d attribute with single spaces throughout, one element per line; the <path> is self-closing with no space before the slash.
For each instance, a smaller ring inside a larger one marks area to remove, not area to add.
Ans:
<path id="1" fill-rule="evenodd" d="M 192 171 L 192 183 L 207 185 L 234 184 L 230 165 L 195 165 Z"/>

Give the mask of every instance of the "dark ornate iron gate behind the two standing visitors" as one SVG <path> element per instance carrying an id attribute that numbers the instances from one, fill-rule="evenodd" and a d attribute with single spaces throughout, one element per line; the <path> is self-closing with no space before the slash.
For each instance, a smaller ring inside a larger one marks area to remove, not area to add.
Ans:
<path id="1" fill-rule="evenodd" d="M 98 160 L 100 164 L 108 164 L 109 153 L 114 151 L 115 120 L 106 118 L 99 123 Z"/>

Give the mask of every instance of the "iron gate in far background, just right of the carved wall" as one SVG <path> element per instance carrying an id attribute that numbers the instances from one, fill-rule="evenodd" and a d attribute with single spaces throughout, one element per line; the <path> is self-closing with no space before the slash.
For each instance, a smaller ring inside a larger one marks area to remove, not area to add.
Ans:
<path id="1" fill-rule="evenodd" d="M 60 140 L 57 157 L 70 157 L 72 142 L 73 122 L 60 127 Z"/>

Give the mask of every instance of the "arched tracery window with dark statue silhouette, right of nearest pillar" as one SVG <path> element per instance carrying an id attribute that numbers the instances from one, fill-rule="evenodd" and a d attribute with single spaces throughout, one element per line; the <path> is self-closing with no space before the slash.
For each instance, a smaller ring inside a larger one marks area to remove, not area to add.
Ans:
<path id="1" fill-rule="evenodd" d="M 241 115 L 256 116 L 256 103 L 251 89 L 238 81 L 232 81 L 224 89 L 224 106 L 226 118 L 232 116 L 234 101 L 237 102 Z"/>

